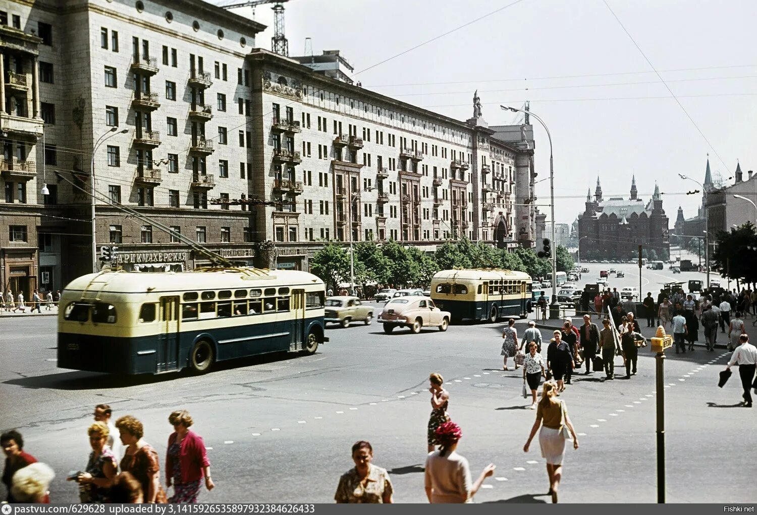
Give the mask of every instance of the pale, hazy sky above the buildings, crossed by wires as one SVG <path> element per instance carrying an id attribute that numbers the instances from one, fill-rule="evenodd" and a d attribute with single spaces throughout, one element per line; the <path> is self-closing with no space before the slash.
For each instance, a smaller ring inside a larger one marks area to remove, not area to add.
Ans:
<path id="1" fill-rule="evenodd" d="M 232 1 L 240 0 L 210 3 Z M 629 197 L 635 175 L 648 200 L 657 182 L 672 228 L 679 205 L 690 218 L 702 200 L 687 195 L 699 186 L 679 173 L 702 182 L 708 154 L 715 178 L 732 177 L 737 160 L 745 177 L 757 171 L 754 0 L 291 0 L 285 8 L 290 55 L 304 54 L 306 38 L 314 54 L 338 49 L 364 88 L 461 120 L 478 89 L 490 125 L 521 123 L 499 106 L 530 101 L 552 135 L 558 223 L 583 213 L 597 175 L 605 198 Z M 253 17 L 251 8 L 233 12 Z M 254 19 L 269 26 L 256 45 L 270 49 L 273 12 L 261 5 Z M 538 178 L 547 178 L 547 133 L 534 126 L 534 138 Z M 547 213 L 549 185 L 536 187 Z"/>

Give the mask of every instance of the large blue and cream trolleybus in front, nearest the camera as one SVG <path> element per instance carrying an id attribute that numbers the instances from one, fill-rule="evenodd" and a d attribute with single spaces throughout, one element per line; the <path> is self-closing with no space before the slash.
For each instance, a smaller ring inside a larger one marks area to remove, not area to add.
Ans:
<path id="1" fill-rule="evenodd" d="M 58 367 L 160 374 L 266 352 L 313 354 L 323 281 L 304 271 L 101 271 L 61 294 Z"/>

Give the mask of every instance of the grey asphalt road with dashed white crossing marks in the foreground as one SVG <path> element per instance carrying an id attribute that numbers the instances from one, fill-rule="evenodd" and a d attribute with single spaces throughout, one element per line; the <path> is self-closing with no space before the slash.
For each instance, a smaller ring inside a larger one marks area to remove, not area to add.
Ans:
<path id="1" fill-rule="evenodd" d="M 390 471 L 397 502 L 425 502 L 426 378 L 438 371 L 449 386 L 450 415 L 463 428 L 459 451 L 475 475 L 497 465 L 476 500 L 546 502 L 538 445 L 522 450 L 534 411 L 525 409 L 522 372 L 501 371 L 501 327 L 385 335 L 377 324 L 356 324 L 329 330 L 331 342 L 313 356 L 239 360 L 201 377 L 123 379 L 56 368 L 55 318 L 3 318 L 0 427 L 19 428 L 25 450 L 56 470 L 55 502 L 77 500 L 64 478 L 86 466 L 86 427 L 100 402 L 116 416 L 139 417 L 160 455 L 172 430 L 168 414 L 187 408 L 217 485 L 201 493 L 204 502 L 330 502 L 358 439 L 369 440 L 374 463 Z M 669 502 L 757 501 L 757 411 L 737 406 L 737 379 L 716 386 L 723 352 L 665 359 Z M 581 447 L 567 451 L 562 502 L 656 501 L 655 362 L 648 348 L 640 354 L 631 380 L 578 376 L 563 394 Z"/>

